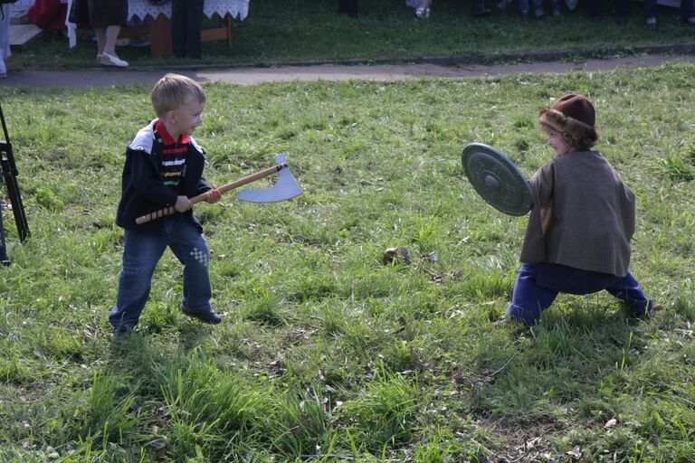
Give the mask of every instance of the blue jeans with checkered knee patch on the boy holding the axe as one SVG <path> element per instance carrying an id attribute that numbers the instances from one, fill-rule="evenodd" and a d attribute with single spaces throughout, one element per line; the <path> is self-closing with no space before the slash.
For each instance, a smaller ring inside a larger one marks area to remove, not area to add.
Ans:
<path id="1" fill-rule="evenodd" d="M 116 307 L 109 313 L 109 323 L 119 331 L 129 331 L 138 320 L 152 287 L 152 275 L 167 246 L 184 264 L 184 298 L 182 309 L 189 314 L 212 310 L 208 265 L 210 250 L 205 237 L 187 214 L 176 213 L 164 221 L 161 234 L 126 230 L 123 269 L 119 274 Z"/>

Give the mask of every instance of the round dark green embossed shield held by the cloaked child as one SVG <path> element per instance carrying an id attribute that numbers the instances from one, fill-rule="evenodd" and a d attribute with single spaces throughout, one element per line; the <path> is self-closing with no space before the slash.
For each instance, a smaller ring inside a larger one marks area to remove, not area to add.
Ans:
<path id="1" fill-rule="evenodd" d="M 463 169 L 475 191 L 492 207 L 509 215 L 531 210 L 531 189 L 519 167 L 492 146 L 471 143 L 463 148 Z"/>

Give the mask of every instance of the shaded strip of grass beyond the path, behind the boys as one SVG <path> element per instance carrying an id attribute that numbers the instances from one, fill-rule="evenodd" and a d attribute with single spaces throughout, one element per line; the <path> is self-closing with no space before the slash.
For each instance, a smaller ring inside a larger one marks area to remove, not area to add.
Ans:
<path id="1" fill-rule="evenodd" d="M 595 24 L 586 12 L 565 11 L 560 18 L 521 24 L 517 15 L 495 12 L 489 18 L 471 16 L 462 0 L 437 0 L 428 21 L 415 18 L 403 0 L 360 0 L 357 19 L 337 13 L 337 0 L 252 0 L 243 21 L 234 20 L 233 46 L 204 43 L 202 60 L 152 59 L 148 48 L 124 47 L 119 55 L 134 69 L 171 66 L 274 65 L 288 61 L 399 60 L 421 56 L 457 56 L 472 61 L 519 60 L 528 52 L 570 51 L 605 55 L 631 53 L 635 47 L 692 43 L 692 26 L 681 24 L 675 8 L 659 11 L 659 30 L 647 31 L 641 5 L 633 5 L 629 24 L 615 24 L 611 7 Z M 495 2 L 490 2 L 490 5 Z M 214 18 L 208 25 L 217 24 Z M 93 67 L 93 33 L 81 30 L 79 43 L 69 49 L 60 34 L 14 50 L 12 69 L 75 69 Z M 515 58 L 516 57 L 516 58 Z"/>

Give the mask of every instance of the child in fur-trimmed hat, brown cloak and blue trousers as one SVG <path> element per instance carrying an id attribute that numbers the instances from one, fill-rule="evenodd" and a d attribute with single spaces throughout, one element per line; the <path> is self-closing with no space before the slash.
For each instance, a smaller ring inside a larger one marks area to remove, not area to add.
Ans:
<path id="1" fill-rule="evenodd" d="M 508 317 L 534 326 L 558 293 L 603 289 L 633 317 L 648 314 L 652 301 L 628 270 L 634 194 L 591 149 L 599 137 L 594 105 L 570 93 L 543 109 L 538 123 L 556 157 L 529 181 L 533 208 Z"/>

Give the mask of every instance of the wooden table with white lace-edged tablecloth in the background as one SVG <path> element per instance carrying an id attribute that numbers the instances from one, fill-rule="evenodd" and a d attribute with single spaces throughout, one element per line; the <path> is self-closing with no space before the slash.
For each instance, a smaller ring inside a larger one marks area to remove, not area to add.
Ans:
<path id="1" fill-rule="evenodd" d="M 200 33 L 201 41 L 225 40 L 227 46 L 232 46 L 232 18 L 243 20 L 249 14 L 250 0 L 205 0 L 203 14 L 212 18 L 219 15 L 224 26 L 204 29 Z M 149 16 L 149 18 L 148 18 Z M 140 19 L 147 24 L 125 27 L 119 37 L 149 36 L 149 47 L 152 56 L 171 56 L 171 2 L 164 5 L 152 5 L 149 0 L 129 0 L 128 19 Z"/>

